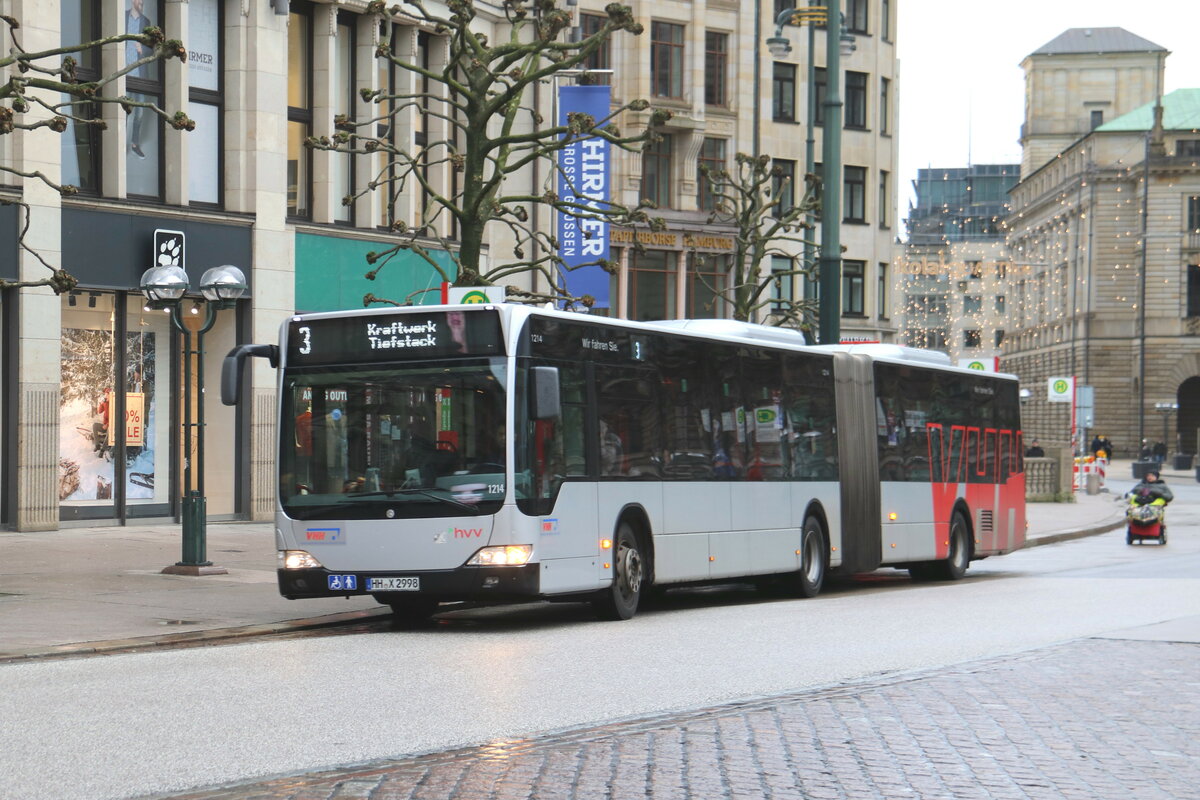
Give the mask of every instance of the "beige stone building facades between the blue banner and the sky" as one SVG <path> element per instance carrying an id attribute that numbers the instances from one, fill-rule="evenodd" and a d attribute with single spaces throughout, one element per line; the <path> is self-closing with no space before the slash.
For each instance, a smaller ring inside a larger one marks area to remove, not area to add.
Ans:
<path id="1" fill-rule="evenodd" d="M 644 253 L 618 247 L 620 272 L 612 282 L 612 313 L 631 319 L 728 315 L 727 308 L 709 302 L 704 283 L 721 281 L 714 272 L 724 269 L 720 265 L 728 258 L 734 230 L 708 223 L 698 167 L 724 166 L 733 172 L 737 152 L 757 151 L 772 156 L 794 176 L 796 185 L 803 186 L 810 92 L 817 109 L 815 163 L 820 162 L 826 31 L 816 30 L 810 50 L 809 29 L 788 24 L 782 35 L 791 53 L 774 58 L 764 46 L 775 31 L 778 14 L 796 5 L 781 0 L 632 4 L 646 32 L 614 42 L 602 59 L 612 68 L 613 97 L 644 97 L 655 107 L 671 109 L 674 116 L 662 130 L 664 142 L 649 156 L 617 156 L 614 182 L 625 205 L 652 197 L 659 204 L 658 215 L 667 222 L 667 235 Z M 890 288 L 895 277 L 893 242 L 899 231 L 898 5 L 895 0 L 840 4 L 846 32 L 854 41 L 853 53 L 841 58 L 845 180 L 840 230 L 846 248 L 841 332 L 847 339 L 895 338 Z M 584 25 L 587 17 L 602 13 L 604 6 L 601 0 L 581 0 Z M 816 67 L 812 84 L 808 79 L 810 60 Z M 678 74 L 674 64 L 680 65 Z M 701 248 L 697 259 L 689 253 L 696 249 L 689 242 L 701 234 L 707 234 L 710 247 Z M 820 225 L 811 237 L 820 241 Z M 800 252 L 794 248 L 797 258 Z M 772 265 L 788 267 L 784 258 Z M 779 291 L 786 297 L 815 296 L 816 287 L 796 279 Z"/>

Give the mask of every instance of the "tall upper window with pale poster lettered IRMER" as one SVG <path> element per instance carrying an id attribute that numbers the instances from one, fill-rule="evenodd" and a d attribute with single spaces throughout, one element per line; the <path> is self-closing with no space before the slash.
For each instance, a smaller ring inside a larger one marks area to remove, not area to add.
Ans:
<path id="1" fill-rule="evenodd" d="M 187 115 L 196 130 L 187 134 L 187 199 L 221 204 L 221 4 L 187 4 Z"/>

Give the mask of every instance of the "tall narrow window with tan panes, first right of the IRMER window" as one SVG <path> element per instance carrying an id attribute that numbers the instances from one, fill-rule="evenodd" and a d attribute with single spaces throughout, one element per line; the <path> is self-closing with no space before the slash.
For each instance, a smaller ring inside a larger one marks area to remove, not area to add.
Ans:
<path id="1" fill-rule="evenodd" d="M 292 6 L 298 7 L 298 4 Z M 312 26 L 308 11 L 288 19 L 288 216 L 312 216 Z"/>

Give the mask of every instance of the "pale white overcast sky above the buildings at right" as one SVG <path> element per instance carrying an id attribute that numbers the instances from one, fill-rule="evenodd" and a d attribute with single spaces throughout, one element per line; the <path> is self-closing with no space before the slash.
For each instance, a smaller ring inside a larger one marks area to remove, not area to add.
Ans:
<path id="1" fill-rule="evenodd" d="M 1200 0 L 900 0 L 900 216 L 922 167 L 1020 163 L 1021 61 L 1069 28 L 1166 48 L 1166 91 L 1200 88 Z"/>

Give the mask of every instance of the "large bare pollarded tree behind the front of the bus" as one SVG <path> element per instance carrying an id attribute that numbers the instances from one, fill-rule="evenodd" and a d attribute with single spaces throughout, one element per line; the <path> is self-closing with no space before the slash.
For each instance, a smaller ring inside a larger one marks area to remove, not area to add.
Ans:
<path id="1" fill-rule="evenodd" d="M 642 143 L 654 136 L 653 126 L 671 116 L 670 112 L 655 110 L 649 114 L 644 131 L 624 136 L 617 119 L 625 112 L 649 108 L 644 100 L 634 100 L 604 119 L 572 113 L 565 125 L 557 120 L 547 125 L 533 104 L 540 85 L 556 76 L 580 73 L 588 58 L 616 32 L 642 32 L 630 7 L 613 2 L 605 8 L 606 18 L 599 30 L 578 41 L 568 41 L 563 34 L 570 28 L 571 16 L 560 5 L 558 0 L 502 0 L 499 7 L 504 20 L 500 28 L 506 36 L 496 43 L 478 30 L 472 0 L 449 0 L 445 16 L 432 12 L 422 0 L 406 0 L 386 8 L 382 0 L 376 0 L 367 6 L 368 12 L 385 19 L 408 18 L 431 26 L 436 35 L 445 37 L 448 47 L 445 65 L 427 68 L 394 53 L 388 43 L 380 44 L 377 55 L 389 68 L 407 70 L 418 78 L 415 85 L 427 88 L 410 92 L 365 91 L 364 98 L 379 108 L 377 115 L 358 121 L 338 116 L 335 122 L 341 130 L 332 138 L 308 139 L 308 145 L 319 150 L 384 155 L 376 179 L 358 194 L 343 198 L 344 204 L 372 191 L 385 191 L 392 200 L 406 190 L 424 198 L 416 215 L 418 224 L 394 218 L 390 228 L 398 241 L 367 254 L 367 261 L 374 266 L 366 275 L 368 279 L 374 279 L 397 253 L 410 251 L 455 285 L 491 285 L 518 273 L 536 272 L 550 287 L 548 294 L 508 287 L 510 294 L 533 300 L 570 300 L 559 289 L 563 271 L 599 265 L 614 272 L 617 265 L 595 260 L 566 266 L 558 255 L 554 234 L 530 223 L 533 207 L 551 209 L 580 219 L 664 227 L 662 221 L 652 219 L 642 205 L 626 209 L 612 203 L 611 198 L 600 198 L 605 203 L 596 203 L 596 198 L 587 198 L 584 192 L 577 191 L 574 182 L 570 185 L 576 197 L 559 197 L 553 188 L 554 178 L 562 174 L 556 156 L 564 148 L 581 139 L 599 138 L 614 148 L 640 150 Z M 582 77 L 586 78 L 586 72 Z M 406 109 L 438 120 L 446 136 L 426 142 L 419 149 L 388 136 L 377 136 L 380 125 L 397 130 L 397 115 Z M 534 164 L 550 167 L 544 188 L 514 190 L 512 179 Z M 430 178 L 445 168 L 458 174 L 454 191 L 442 191 Z M 395 207 L 394 201 L 389 205 Z M 454 240 L 445 235 L 446 219 L 457 234 Z M 498 263 L 485 267 L 481 260 L 487 242 L 485 233 L 493 223 L 506 227 L 515 243 L 510 259 L 497 259 Z M 431 241 L 436 247 L 428 245 Z M 448 254 L 450 266 L 436 258 L 434 252 Z M 590 297 L 582 300 L 589 305 Z M 371 302 L 398 305 L 398 301 L 368 294 L 364 305 Z"/>

